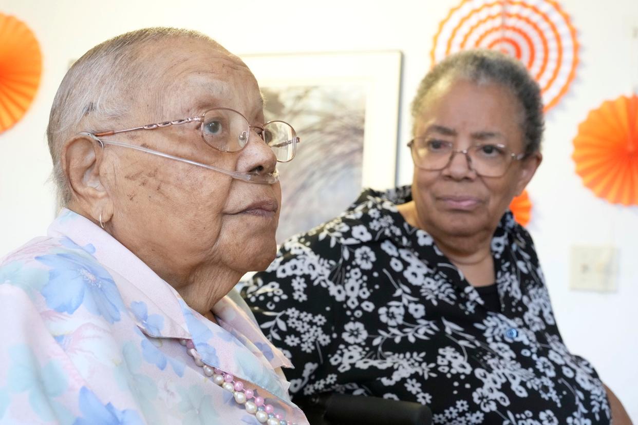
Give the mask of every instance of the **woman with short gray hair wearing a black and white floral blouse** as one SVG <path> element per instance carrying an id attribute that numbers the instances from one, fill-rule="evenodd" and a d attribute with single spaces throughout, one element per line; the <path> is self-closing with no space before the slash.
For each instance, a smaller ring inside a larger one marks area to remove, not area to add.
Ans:
<path id="1" fill-rule="evenodd" d="M 503 54 L 464 52 L 426 75 L 412 112 L 412 187 L 364 191 L 242 292 L 297 367 L 291 392 L 417 401 L 438 424 L 622 423 L 565 347 L 507 211 L 542 159 L 537 83 Z"/>

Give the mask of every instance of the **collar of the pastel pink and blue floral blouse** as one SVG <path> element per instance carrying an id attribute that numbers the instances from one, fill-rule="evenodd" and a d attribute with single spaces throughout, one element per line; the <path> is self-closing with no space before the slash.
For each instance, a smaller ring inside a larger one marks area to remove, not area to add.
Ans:
<path id="1" fill-rule="evenodd" d="M 260 385 L 286 399 L 287 384 L 273 370 L 292 367 L 258 328 L 240 297 L 226 296 L 213 308 L 218 326 L 192 310 L 179 293 L 142 260 L 91 220 L 64 209 L 48 236 L 93 256 L 114 277 L 138 328 L 156 338 L 193 340 L 202 361 Z M 161 320 L 157 320 L 161 317 Z M 161 324 L 161 325 L 160 325 Z M 264 367 L 270 365 L 270 367 Z"/>

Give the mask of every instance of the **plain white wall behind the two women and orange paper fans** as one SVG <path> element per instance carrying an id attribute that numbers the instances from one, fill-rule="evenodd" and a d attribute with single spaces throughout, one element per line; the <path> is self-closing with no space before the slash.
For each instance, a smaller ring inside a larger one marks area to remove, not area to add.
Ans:
<path id="1" fill-rule="evenodd" d="M 44 57 L 33 106 L 15 127 L 0 134 L 0 252 L 43 234 L 52 219 L 54 196 L 46 183 L 51 164 L 44 134 L 51 101 L 70 59 L 110 36 L 150 25 L 198 29 L 235 53 L 402 50 L 398 180 L 410 182 L 412 161 L 403 147 L 410 128 L 406 112 L 429 68 L 436 25 L 457 0 L 373 3 L 0 0 L 0 12 L 16 15 L 36 32 Z M 567 96 L 547 117 L 545 161 L 529 187 L 535 204 L 530 230 L 563 338 L 595 364 L 638 421 L 638 207 L 621 208 L 595 198 L 582 186 L 570 159 L 577 124 L 588 110 L 638 85 L 638 52 L 631 50 L 638 1 L 610 0 L 604 6 L 598 0 L 560 3 L 579 29 L 581 65 Z M 638 48 L 637 42 L 633 48 Z M 617 292 L 568 289 L 569 250 L 577 243 L 618 247 Z"/>

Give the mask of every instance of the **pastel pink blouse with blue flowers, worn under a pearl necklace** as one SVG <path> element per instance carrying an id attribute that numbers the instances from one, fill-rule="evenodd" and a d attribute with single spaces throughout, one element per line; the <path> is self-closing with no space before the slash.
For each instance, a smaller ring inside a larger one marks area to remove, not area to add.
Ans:
<path id="1" fill-rule="evenodd" d="M 219 326 L 93 222 L 63 210 L 0 261 L 0 424 L 258 424 L 187 353 L 308 424 L 241 298 Z"/>

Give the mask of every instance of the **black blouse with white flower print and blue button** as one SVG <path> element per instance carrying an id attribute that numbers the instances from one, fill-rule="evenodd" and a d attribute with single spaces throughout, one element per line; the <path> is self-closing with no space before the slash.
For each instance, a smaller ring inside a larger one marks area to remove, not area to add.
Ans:
<path id="1" fill-rule="evenodd" d="M 563 344 L 533 242 L 511 213 L 492 240 L 493 311 L 397 212 L 409 200 L 410 187 L 362 192 L 287 240 L 242 290 L 296 367 L 290 392 L 417 401 L 436 424 L 608 424 L 604 387 Z"/>

